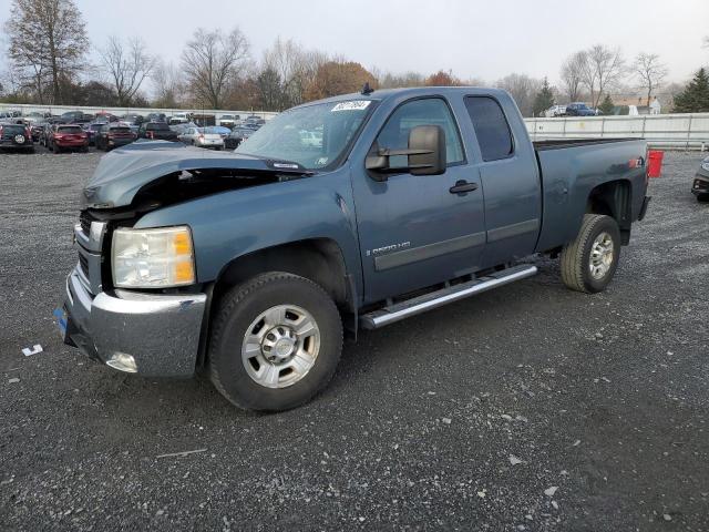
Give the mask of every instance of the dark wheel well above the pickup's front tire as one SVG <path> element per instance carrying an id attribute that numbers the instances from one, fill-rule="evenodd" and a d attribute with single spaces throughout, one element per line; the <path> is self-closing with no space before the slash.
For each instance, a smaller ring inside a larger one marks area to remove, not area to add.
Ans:
<path id="1" fill-rule="evenodd" d="M 282 244 L 235 258 L 215 283 L 215 300 L 228 288 L 265 272 L 306 277 L 320 285 L 338 306 L 351 303 L 342 252 L 328 238 Z"/>

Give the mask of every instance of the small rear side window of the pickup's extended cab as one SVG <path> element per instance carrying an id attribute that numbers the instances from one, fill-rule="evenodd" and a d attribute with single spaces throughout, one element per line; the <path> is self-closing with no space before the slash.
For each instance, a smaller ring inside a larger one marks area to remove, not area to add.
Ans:
<path id="1" fill-rule="evenodd" d="M 512 156 L 512 133 L 497 101 L 489 96 L 467 96 L 465 108 L 473 122 L 483 161 L 499 161 Z"/>

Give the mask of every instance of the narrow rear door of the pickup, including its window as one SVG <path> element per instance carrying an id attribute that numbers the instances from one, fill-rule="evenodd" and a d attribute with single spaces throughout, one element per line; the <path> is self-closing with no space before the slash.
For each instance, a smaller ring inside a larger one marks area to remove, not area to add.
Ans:
<path id="1" fill-rule="evenodd" d="M 536 155 L 512 100 L 503 101 L 504 110 L 487 95 L 465 96 L 464 102 L 477 140 L 485 197 L 483 266 L 496 266 L 530 255 L 536 246 L 542 223 Z"/>

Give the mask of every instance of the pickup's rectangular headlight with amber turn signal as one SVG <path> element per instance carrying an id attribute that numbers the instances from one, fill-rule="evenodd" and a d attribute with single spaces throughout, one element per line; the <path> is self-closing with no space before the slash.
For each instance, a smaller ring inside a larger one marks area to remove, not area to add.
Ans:
<path id="1" fill-rule="evenodd" d="M 113 284 L 120 288 L 165 288 L 195 283 L 189 227 L 116 229 L 111 249 Z"/>

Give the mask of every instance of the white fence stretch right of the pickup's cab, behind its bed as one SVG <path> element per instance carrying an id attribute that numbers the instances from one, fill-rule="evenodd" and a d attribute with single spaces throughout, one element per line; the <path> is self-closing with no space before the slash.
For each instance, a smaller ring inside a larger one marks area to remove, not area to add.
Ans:
<path id="1" fill-rule="evenodd" d="M 646 139 L 653 147 L 706 150 L 709 113 L 641 116 L 525 119 L 533 141 L 561 139 Z"/>

